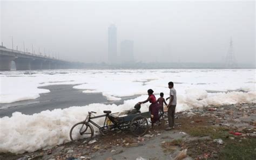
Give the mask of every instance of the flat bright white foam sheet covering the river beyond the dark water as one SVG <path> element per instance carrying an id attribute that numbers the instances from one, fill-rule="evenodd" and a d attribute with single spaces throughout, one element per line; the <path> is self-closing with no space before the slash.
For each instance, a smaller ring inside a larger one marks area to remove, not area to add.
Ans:
<path id="1" fill-rule="evenodd" d="M 26 74 L 25 74 L 26 73 Z M 255 91 L 255 69 L 139 69 L 139 70 L 68 70 L 2 72 L 0 74 L 0 103 L 36 99 L 48 85 L 76 85 L 84 93 L 103 93 L 121 98 L 147 94 L 152 88 L 156 93 L 166 91 L 167 82 L 179 82 L 174 87 L 179 94 L 186 89 L 227 91 L 242 89 Z M 63 81 L 65 80 L 65 81 Z M 250 82 L 250 83 L 248 83 Z M 24 94 L 25 93 L 25 94 Z M 108 98 L 112 99 L 112 98 Z"/>

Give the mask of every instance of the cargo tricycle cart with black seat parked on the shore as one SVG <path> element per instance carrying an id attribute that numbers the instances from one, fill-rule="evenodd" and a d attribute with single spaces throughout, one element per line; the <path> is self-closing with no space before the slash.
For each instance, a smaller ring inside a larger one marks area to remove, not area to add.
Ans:
<path id="1" fill-rule="evenodd" d="M 100 133 L 104 134 L 113 129 L 130 130 L 134 136 L 143 136 L 149 131 L 147 118 L 150 117 L 150 112 L 140 113 L 139 109 L 126 110 L 121 114 L 111 114 L 110 110 L 104 110 L 104 115 L 92 116 L 96 112 L 88 112 L 86 119 L 82 122 L 76 123 L 70 129 L 70 139 L 72 142 L 88 142 L 93 137 L 95 126 Z M 99 126 L 93 122 L 93 119 L 105 117 L 104 125 Z"/>

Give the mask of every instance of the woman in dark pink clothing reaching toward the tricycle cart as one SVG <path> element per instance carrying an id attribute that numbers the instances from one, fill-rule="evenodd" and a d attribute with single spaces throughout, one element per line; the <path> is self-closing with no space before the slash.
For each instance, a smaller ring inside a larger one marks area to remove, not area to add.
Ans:
<path id="1" fill-rule="evenodd" d="M 149 106 L 149 111 L 151 113 L 152 128 L 153 128 L 153 124 L 159 121 L 159 115 L 158 115 L 159 105 L 158 105 L 156 96 L 153 95 L 153 92 L 154 91 L 152 89 L 147 90 L 147 94 L 149 95 L 149 98 L 147 98 L 147 100 L 143 102 L 139 102 L 139 104 L 146 103 L 148 101 L 151 103 L 151 105 Z"/>

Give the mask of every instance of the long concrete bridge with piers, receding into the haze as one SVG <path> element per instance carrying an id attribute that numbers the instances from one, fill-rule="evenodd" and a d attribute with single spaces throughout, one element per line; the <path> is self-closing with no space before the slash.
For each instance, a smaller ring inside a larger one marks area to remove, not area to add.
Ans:
<path id="1" fill-rule="evenodd" d="M 71 69 L 78 67 L 76 62 L 11 50 L 0 46 L 0 71 L 10 71 L 11 61 L 15 62 L 16 70 Z"/>

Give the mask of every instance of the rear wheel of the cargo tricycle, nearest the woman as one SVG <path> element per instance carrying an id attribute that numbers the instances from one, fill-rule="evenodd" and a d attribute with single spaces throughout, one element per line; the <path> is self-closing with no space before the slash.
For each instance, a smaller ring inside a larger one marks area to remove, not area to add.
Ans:
<path id="1" fill-rule="evenodd" d="M 130 130 L 131 133 L 134 136 L 143 136 L 147 133 L 149 130 L 149 127 L 147 126 L 147 119 L 144 116 L 136 116 L 132 119 L 130 124 Z"/>

